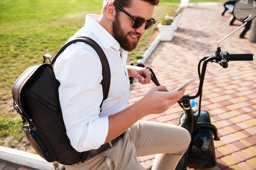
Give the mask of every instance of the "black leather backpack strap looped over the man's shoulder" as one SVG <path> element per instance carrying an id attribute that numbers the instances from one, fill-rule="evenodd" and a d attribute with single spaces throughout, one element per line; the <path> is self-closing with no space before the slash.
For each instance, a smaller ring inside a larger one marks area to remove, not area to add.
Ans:
<path id="1" fill-rule="evenodd" d="M 103 100 L 101 102 L 100 107 L 102 106 L 102 103 L 104 100 L 108 98 L 108 92 L 109 92 L 109 87 L 110 87 L 110 68 L 109 68 L 109 63 L 108 59 L 103 52 L 102 48 L 97 44 L 93 39 L 89 37 L 77 37 L 72 39 L 71 41 L 68 41 L 64 46 L 61 47 L 60 50 L 58 50 L 57 54 L 55 55 L 54 59 L 51 62 L 51 65 L 53 65 L 58 58 L 58 56 L 67 48 L 70 44 L 73 44 L 75 42 L 84 42 L 88 45 L 90 45 L 99 55 L 101 59 L 101 65 L 102 65 L 102 76 L 103 79 L 101 81 L 101 85 L 103 87 Z"/>

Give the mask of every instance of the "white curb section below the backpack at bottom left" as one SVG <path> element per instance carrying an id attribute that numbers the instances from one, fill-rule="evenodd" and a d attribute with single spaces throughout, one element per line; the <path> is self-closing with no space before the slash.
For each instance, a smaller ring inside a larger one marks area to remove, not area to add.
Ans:
<path id="1" fill-rule="evenodd" d="M 0 159 L 19 165 L 36 168 L 38 170 L 56 170 L 53 163 L 45 161 L 42 157 L 34 153 L 0 146 Z M 59 169 L 62 164 L 58 163 Z M 64 167 L 64 166 L 63 166 Z"/>

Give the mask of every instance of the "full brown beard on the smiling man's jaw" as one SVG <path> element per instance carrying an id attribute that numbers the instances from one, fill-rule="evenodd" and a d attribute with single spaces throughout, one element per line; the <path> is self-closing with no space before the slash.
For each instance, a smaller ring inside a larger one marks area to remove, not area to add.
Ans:
<path id="1" fill-rule="evenodd" d="M 136 41 L 132 41 L 127 38 L 127 33 L 120 28 L 121 23 L 118 20 L 118 17 L 112 22 L 112 33 L 114 38 L 117 40 L 117 42 L 120 44 L 120 47 L 123 48 L 126 51 L 132 51 L 137 47 L 137 44 L 139 42 L 139 38 L 141 37 L 138 36 Z"/>

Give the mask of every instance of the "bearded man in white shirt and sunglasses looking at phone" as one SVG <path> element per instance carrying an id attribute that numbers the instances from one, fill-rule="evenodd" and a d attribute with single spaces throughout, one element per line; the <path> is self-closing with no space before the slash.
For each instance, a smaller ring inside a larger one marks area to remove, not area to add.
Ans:
<path id="1" fill-rule="evenodd" d="M 129 77 L 150 83 L 146 68 L 126 65 L 128 51 L 155 20 L 159 0 L 104 0 L 101 15 L 88 14 L 70 39 L 89 37 L 103 49 L 110 65 L 110 89 L 103 99 L 102 66 L 94 49 L 83 42 L 68 46 L 55 62 L 59 98 L 67 136 L 78 152 L 89 153 L 66 170 L 145 170 L 139 156 L 157 154 L 152 170 L 174 170 L 191 137 L 180 126 L 141 118 L 166 111 L 182 98 L 185 89 L 168 92 L 157 86 L 133 105 Z M 103 149 L 104 148 L 104 149 Z M 65 148 L 63 148 L 65 152 Z M 72 157 L 72 155 L 70 155 Z"/>

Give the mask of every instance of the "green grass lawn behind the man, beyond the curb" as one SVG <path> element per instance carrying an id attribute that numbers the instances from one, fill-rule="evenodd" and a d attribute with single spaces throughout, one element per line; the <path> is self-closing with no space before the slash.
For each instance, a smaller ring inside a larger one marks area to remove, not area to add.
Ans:
<path id="1" fill-rule="evenodd" d="M 190 0 L 225 2 L 226 0 Z M 31 65 L 42 63 L 43 54 L 55 55 L 79 28 L 87 13 L 100 14 L 103 0 L 1 0 L 0 1 L 0 145 L 15 147 L 22 133 L 21 118 L 14 111 L 11 87 Z M 180 0 L 160 0 L 153 17 L 160 21 Z M 128 58 L 136 62 L 158 35 L 157 24 L 141 37 Z"/>

